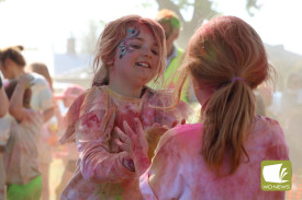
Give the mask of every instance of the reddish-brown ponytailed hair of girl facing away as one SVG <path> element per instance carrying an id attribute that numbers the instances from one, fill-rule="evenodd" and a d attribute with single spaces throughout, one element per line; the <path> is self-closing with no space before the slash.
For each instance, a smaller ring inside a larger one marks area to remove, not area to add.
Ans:
<path id="1" fill-rule="evenodd" d="M 187 75 L 201 86 L 214 89 L 203 105 L 201 153 L 220 175 L 224 156 L 231 161 L 227 174 L 239 166 L 244 141 L 255 115 L 253 90 L 269 78 L 270 66 L 256 31 L 236 16 L 217 16 L 201 26 L 190 39 L 176 89 L 179 102 Z"/>

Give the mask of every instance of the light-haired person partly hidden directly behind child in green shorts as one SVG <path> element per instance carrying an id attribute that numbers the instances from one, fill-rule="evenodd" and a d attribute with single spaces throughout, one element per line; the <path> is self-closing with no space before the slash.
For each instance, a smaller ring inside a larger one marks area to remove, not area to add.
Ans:
<path id="1" fill-rule="evenodd" d="M 52 93 L 54 92 L 53 80 L 51 78 L 48 68 L 45 63 L 32 62 L 25 68 L 25 71 L 29 73 L 36 73 L 44 77 L 48 83 L 48 87 L 51 89 Z M 52 96 L 54 95 L 52 94 Z M 54 102 L 54 105 L 55 105 L 55 102 Z M 57 126 L 54 126 L 54 120 L 52 120 L 55 117 L 56 115 L 43 123 L 41 140 L 38 143 L 40 172 L 42 174 L 42 181 L 43 181 L 42 198 L 41 198 L 42 200 L 49 199 L 49 166 L 51 166 L 51 163 L 53 162 L 53 152 L 54 152 L 53 149 L 54 149 L 54 145 L 57 143 L 56 142 L 57 132 L 56 130 L 53 130 L 54 127 L 57 127 Z"/>

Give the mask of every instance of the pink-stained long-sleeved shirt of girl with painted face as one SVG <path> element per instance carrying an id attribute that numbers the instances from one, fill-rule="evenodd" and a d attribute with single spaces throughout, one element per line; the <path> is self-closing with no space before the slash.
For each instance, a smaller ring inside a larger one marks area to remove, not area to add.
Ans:
<path id="1" fill-rule="evenodd" d="M 156 109 L 154 106 L 167 106 L 170 93 L 149 87 L 144 91 L 142 98 L 132 98 L 104 85 L 92 87 L 74 103 L 67 121 L 76 125 L 75 138 L 80 158 L 60 199 L 142 199 L 135 173 L 122 165 L 123 158 L 128 157 L 114 142 L 118 139 L 114 127 L 123 130 L 123 121 L 127 121 L 134 129 L 134 118 L 141 119 L 145 130 L 154 122 L 170 127 L 174 121 L 187 118 L 188 111 L 184 103 L 172 110 Z M 69 127 L 61 141 L 72 139 L 72 132 L 74 128 Z"/>

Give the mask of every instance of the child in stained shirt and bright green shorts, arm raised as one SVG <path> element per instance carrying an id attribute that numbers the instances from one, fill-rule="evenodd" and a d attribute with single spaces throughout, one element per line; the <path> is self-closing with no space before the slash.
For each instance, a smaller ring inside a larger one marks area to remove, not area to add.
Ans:
<path id="1" fill-rule="evenodd" d="M 15 119 L 4 153 L 8 200 L 40 200 L 42 192 L 37 144 L 43 114 L 30 106 L 32 79 L 29 74 L 21 74 L 5 87 L 10 115 Z"/>

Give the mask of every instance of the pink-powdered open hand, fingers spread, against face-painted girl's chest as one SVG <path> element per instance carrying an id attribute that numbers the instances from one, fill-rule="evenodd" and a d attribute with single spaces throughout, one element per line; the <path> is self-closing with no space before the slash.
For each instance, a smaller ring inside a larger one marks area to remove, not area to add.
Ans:
<path id="1" fill-rule="evenodd" d="M 135 131 L 133 131 L 126 121 L 123 122 L 125 132 L 119 127 L 115 127 L 115 131 L 119 134 L 120 140 L 115 140 L 116 144 L 123 150 L 130 153 L 132 157 L 136 155 L 148 154 L 148 142 L 145 137 L 145 132 L 139 119 L 135 118 Z"/>

